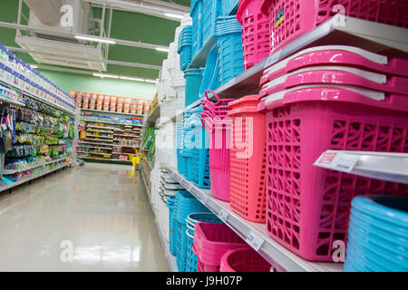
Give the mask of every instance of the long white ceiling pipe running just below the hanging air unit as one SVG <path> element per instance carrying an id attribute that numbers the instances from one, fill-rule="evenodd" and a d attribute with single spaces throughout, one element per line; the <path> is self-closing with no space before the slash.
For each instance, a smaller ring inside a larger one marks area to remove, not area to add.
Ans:
<path id="1" fill-rule="evenodd" d="M 139 67 L 143 69 L 150 69 L 150 70 L 161 70 L 161 66 L 159 65 L 152 65 L 152 64 L 144 64 L 144 63 L 128 63 L 128 62 L 119 62 L 119 61 L 112 61 L 112 60 L 98 60 L 98 59 L 90 59 L 86 57 L 76 57 L 76 56 L 67 56 L 60 53 L 44 53 L 38 52 L 34 50 L 19 48 L 19 47 L 10 47 L 6 46 L 8 50 L 17 53 L 33 53 L 33 54 L 40 54 L 40 55 L 49 55 L 49 56 L 56 56 L 61 57 L 67 61 L 75 60 L 75 61 L 83 61 L 83 62 L 91 62 L 91 63 L 108 63 L 108 64 L 115 64 L 115 65 L 122 65 L 122 66 L 132 66 L 132 67 Z"/>

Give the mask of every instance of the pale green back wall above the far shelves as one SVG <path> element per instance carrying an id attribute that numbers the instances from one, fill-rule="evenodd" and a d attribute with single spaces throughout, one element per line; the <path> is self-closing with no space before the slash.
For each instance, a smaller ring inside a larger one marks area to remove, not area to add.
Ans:
<path id="1" fill-rule="evenodd" d="M 140 97 L 152 100 L 156 92 L 155 84 L 117 79 L 102 79 L 92 75 L 38 70 L 55 82 L 64 91 L 94 92 L 122 97 Z"/>

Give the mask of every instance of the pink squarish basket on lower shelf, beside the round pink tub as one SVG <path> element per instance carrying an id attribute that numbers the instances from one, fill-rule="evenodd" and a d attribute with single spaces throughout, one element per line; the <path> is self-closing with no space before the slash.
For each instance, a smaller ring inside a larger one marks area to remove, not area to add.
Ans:
<path id="1" fill-rule="evenodd" d="M 199 257 L 199 263 L 210 266 L 211 272 L 219 272 L 221 258 L 228 250 L 241 247 L 248 245 L 225 224 L 197 223 L 195 226 L 193 252 Z"/>

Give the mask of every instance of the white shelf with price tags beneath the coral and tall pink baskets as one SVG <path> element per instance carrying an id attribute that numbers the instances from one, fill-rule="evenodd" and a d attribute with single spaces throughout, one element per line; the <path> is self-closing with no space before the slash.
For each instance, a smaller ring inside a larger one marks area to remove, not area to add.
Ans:
<path id="1" fill-rule="evenodd" d="M 229 203 L 213 198 L 210 189 L 199 189 L 192 182 L 180 175 L 177 169 L 161 164 L 168 169 L 171 177 L 181 186 L 231 227 L 240 237 L 247 241 L 261 256 L 275 266 L 290 272 L 342 272 L 343 263 L 309 262 L 281 246 L 267 234 L 265 224 L 249 222 L 231 211 Z"/>

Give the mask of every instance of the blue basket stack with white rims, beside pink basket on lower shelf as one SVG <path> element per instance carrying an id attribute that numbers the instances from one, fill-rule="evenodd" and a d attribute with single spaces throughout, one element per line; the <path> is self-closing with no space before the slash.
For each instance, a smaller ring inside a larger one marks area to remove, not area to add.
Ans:
<path id="1" fill-rule="evenodd" d="M 221 224 L 222 221 L 217 218 L 212 213 L 193 213 L 190 214 L 189 217 L 186 219 L 186 240 L 182 241 L 183 244 L 186 244 L 186 272 L 197 272 L 197 255 L 194 254 L 192 247 L 194 244 L 194 228 L 196 226 L 196 223 L 198 222 L 203 222 L 203 223 L 219 223 Z"/>

